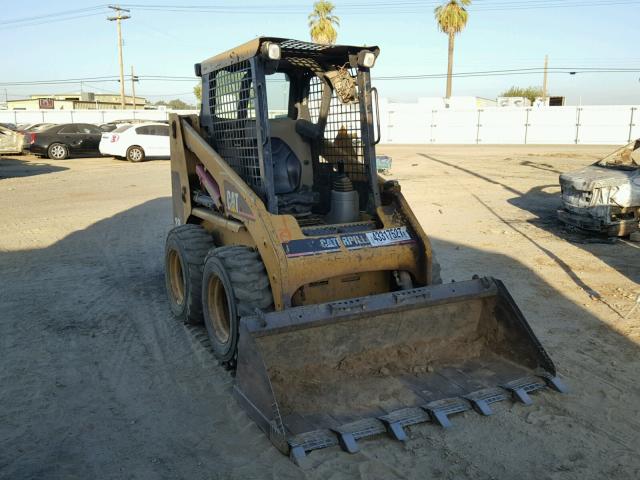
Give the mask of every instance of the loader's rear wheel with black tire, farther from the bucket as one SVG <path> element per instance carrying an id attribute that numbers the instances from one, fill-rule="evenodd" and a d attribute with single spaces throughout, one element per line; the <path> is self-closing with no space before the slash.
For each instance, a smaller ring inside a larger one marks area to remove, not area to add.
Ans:
<path id="1" fill-rule="evenodd" d="M 190 325 L 202 323 L 202 269 L 213 238 L 200 225 L 180 225 L 167 235 L 165 244 L 165 287 L 173 315 Z M 179 262 L 180 273 L 172 262 Z M 175 275 L 174 275 L 174 272 Z M 182 299 L 176 285 L 182 279 Z"/>

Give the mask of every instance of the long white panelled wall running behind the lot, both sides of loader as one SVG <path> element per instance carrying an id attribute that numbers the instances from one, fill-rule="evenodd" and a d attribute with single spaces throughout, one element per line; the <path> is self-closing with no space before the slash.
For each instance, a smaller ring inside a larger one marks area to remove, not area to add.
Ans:
<path id="1" fill-rule="evenodd" d="M 166 120 L 169 110 L 0 110 L 0 122 Z M 197 111 L 176 111 L 180 114 Z M 382 143 L 623 144 L 640 137 L 640 105 L 443 108 L 380 99 Z"/>

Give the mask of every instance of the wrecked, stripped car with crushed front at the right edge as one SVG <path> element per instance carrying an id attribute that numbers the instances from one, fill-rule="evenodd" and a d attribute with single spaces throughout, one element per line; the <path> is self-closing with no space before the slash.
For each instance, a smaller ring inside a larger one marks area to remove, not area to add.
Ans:
<path id="1" fill-rule="evenodd" d="M 640 229 L 640 139 L 593 165 L 560 175 L 561 222 L 609 236 Z"/>

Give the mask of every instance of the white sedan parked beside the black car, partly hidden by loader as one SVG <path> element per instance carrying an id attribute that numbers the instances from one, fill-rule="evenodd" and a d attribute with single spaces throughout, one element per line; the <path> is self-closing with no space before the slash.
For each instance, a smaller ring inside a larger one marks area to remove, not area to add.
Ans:
<path id="1" fill-rule="evenodd" d="M 169 158 L 169 125 L 155 122 L 121 125 L 102 134 L 100 153 L 130 162 Z"/>

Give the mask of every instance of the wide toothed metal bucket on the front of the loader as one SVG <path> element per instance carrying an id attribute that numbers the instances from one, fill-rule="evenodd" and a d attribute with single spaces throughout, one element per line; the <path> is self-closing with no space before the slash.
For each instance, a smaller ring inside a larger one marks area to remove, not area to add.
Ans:
<path id="1" fill-rule="evenodd" d="M 306 452 L 551 386 L 555 367 L 499 280 L 473 279 L 241 319 L 235 394 L 273 443 Z"/>

